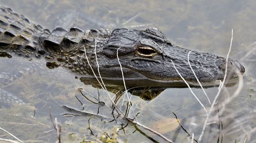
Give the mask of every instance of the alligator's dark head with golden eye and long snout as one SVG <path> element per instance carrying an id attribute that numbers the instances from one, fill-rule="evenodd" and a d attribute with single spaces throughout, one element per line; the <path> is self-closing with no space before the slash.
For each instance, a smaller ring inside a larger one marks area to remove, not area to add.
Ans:
<path id="1" fill-rule="evenodd" d="M 98 77 L 99 68 L 106 84 L 123 85 L 123 72 L 127 87 L 186 87 L 176 67 L 191 87 L 198 87 L 199 83 L 188 64 L 189 51 L 169 42 L 157 28 L 142 31 L 119 28 L 97 48 L 98 66 L 94 53 L 89 61 Z M 191 51 L 189 62 L 204 87 L 218 86 L 219 80 L 224 78 L 226 58 Z M 227 71 L 227 84 L 231 85 L 238 81 L 238 74 L 243 74 L 245 69 L 237 60 L 228 59 Z"/>

